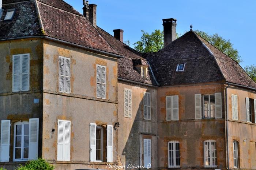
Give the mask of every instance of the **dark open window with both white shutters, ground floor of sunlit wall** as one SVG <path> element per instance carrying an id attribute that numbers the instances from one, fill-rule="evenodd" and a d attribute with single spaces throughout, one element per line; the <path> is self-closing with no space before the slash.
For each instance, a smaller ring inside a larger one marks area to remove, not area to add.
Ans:
<path id="1" fill-rule="evenodd" d="M 106 149 L 104 151 L 104 149 Z M 107 158 L 106 160 L 104 158 Z M 113 162 L 113 126 L 90 123 L 90 161 Z"/>

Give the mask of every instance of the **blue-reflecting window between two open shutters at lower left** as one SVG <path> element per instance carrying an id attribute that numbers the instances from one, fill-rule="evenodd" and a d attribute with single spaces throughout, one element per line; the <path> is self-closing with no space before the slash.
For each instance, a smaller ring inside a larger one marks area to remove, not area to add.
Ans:
<path id="1" fill-rule="evenodd" d="M 29 122 L 14 124 L 14 161 L 29 159 Z"/>

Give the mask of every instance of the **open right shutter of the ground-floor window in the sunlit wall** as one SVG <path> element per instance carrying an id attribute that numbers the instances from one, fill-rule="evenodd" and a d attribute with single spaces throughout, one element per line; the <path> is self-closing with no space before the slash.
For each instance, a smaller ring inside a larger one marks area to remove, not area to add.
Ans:
<path id="1" fill-rule="evenodd" d="M 113 126 L 107 127 L 107 162 L 113 162 Z"/>

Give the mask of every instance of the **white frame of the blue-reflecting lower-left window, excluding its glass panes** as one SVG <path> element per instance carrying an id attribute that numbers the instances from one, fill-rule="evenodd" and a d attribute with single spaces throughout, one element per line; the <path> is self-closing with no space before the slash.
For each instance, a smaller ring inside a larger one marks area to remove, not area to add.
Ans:
<path id="1" fill-rule="evenodd" d="M 27 124 L 29 125 L 29 122 L 27 121 L 23 121 L 23 122 L 16 122 L 14 123 L 14 150 L 13 150 L 13 161 L 15 162 L 19 162 L 19 161 L 27 161 L 29 160 L 29 158 L 23 158 L 23 155 L 24 155 L 24 125 Z M 22 128 L 21 128 L 21 151 L 20 151 L 20 159 L 15 159 L 15 151 L 16 151 L 16 125 L 22 125 Z M 29 137 L 29 135 L 26 135 Z M 27 147 L 27 146 L 26 146 Z M 29 146 L 27 147 L 29 148 Z M 28 153 L 29 154 L 29 153 Z M 29 155 L 28 155 L 29 156 Z"/>

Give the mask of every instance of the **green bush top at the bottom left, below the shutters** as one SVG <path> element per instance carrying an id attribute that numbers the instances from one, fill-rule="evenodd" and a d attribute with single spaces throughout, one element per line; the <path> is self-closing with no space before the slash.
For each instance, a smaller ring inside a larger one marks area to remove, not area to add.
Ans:
<path id="1" fill-rule="evenodd" d="M 25 166 L 20 166 L 17 170 L 54 170 L 54 166 L 39 158 L 35 161 L 28 161 Z"/>

